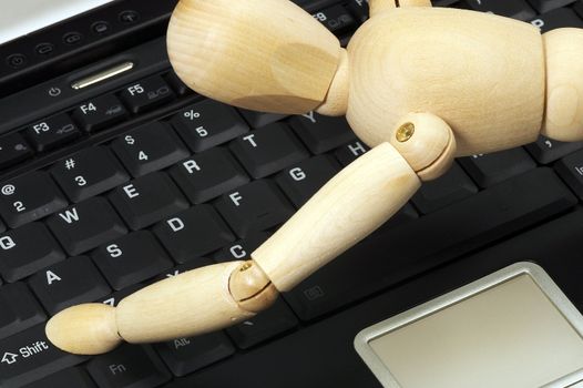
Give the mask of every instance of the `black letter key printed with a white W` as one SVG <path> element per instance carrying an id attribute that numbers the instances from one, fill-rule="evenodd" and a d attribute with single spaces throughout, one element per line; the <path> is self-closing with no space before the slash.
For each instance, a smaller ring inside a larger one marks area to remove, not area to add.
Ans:
<path id="1" fill-rule="evenodd" d="M 71 256 L 117 238 L 127 228 L 111 205 L 93 197 L 51 216 L 47 224 Z"/>

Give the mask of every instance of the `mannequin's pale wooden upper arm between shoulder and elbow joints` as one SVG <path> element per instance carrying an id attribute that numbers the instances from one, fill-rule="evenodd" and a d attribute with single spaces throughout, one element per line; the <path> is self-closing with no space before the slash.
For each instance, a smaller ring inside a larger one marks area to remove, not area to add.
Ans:
<path id="1" fill-rule="evenodd" d="M 287 292 L 382 225 L 419 186 L 395 147 L 379 144 L 333 177 L 252 257 Z"/>

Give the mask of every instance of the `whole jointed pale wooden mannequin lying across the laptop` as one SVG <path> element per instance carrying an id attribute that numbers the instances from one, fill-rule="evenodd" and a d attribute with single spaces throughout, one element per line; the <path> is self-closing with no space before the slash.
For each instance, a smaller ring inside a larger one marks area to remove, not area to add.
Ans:
<path id="1" fill-rule="evenodd" d="M 247 262 L 156 283 L 114 308 L 74 306 L 47 334 L 76 354 L 227 327 L 366 237 L 456 156 L 583 140 L 583 30 L 534 27 L 429 0 L 370 0 L 348 49 L 287 0 L 183 0 L 168 29 L 177 74 L 246 109 L 346 114 L 372 150 Z M 388 242 L 390 244 L 390 242 Z"/>

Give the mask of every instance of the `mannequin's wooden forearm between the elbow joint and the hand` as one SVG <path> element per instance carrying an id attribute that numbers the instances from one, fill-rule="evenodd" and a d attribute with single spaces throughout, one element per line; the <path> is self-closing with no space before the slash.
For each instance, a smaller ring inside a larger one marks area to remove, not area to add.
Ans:
<path id="1" fill-rule="evenodd" d="M 157 343 L 214 331 L 248 319 L 229 277 L 243 262 L 211 265 L 164 279 L 120 302 L 117 330 L 129 343 Z"/>

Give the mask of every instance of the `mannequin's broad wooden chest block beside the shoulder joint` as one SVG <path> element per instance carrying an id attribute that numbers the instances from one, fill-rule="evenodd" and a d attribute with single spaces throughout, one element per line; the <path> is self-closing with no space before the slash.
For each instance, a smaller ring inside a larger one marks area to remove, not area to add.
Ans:
<path id="1" fill-rule="evenodd" d="M 348 45 L 347 119 L 375 146 L 410 112 L 431 112 L 456 133 L 457 155 L 536 140 L 544 54 L 534 27 L 467 10 L 396 8 L 367 21 Z"/>

